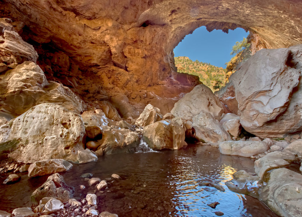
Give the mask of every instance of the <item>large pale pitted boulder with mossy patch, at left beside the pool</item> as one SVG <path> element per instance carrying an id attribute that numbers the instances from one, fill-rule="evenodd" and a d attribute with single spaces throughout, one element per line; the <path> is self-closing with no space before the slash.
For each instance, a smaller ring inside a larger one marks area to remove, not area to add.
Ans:
<path id="1" fill-rule="evenodd" d="M 79 114 L 43 103 L 0 127 L 2 153 L 18 161 L 73 159 L 83 149 L 85 127 Z"/>

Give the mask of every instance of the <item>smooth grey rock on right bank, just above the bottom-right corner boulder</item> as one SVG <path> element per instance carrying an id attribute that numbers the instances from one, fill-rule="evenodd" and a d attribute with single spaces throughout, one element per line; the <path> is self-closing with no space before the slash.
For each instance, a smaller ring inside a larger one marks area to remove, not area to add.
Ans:
<path id="1" fill-rule="evenodd" d="M 288 166 L 294 160 L 296 160 L 296 157 L 291 153 L 274 151 L 255 161 L 255 173 L 262 178 L 265 172 L 282 166 Z"/>

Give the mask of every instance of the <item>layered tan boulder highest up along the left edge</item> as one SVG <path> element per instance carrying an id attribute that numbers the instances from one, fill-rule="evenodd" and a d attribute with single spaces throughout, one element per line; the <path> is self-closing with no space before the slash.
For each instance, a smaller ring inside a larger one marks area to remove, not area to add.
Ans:
<path id="1" fill-rule="evenodd" d="M 17 32 L 4 30 L 0 40 L 0 60 L 2 62 L 20 64 L 24 61 L 37 61 L 37 51 L 32 45 L 24 42 Z"/>

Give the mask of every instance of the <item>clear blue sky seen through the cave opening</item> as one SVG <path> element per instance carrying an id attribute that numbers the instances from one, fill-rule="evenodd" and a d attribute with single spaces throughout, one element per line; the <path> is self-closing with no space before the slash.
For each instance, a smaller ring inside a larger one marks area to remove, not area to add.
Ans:
<path id="1" fill-rule="evenodd" d="M 222 30 L 209 33 L 205 26 L 201 26 L 179 42 L 174 48 L 174 56 L 185 56 L 193 61 L 199 60 L 225 68 L 225 63 L 234 56 L 230 55 L 233 45 L 242 41 L 248 34 L 241 28 L 229 30 L 228 34 Z"/>

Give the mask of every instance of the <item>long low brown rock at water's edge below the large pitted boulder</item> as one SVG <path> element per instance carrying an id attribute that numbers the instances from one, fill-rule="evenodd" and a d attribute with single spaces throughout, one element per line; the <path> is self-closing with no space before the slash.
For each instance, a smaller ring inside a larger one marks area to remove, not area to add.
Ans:
<path id="1" fill-rule="evenodd" d="M 63 159 L 40 160 L 34 162 L 28 168 L 28 176 L 35 177 L 49 175 L 57 172 L 67 171 L 72 168 L 72 164 Z"/>

